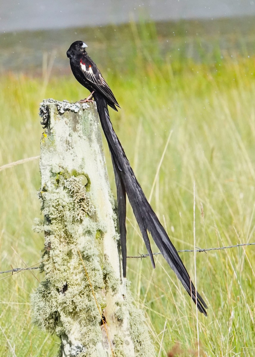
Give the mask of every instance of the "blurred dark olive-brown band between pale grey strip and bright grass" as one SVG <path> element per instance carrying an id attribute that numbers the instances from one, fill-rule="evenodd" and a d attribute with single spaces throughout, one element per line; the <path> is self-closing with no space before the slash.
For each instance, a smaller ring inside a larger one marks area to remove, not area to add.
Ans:
<path id="1" fill-rule="evenodd" d="M 118 75 L 148 63 L 215 64 L 225 56 L 255 55 L 255 17 L 9 32 L 0 34 L 0 72 L 41 75 L 52 66 L 55 73 L 70 74 L 66 50 L 76 40 L 86 42 L 99 68 Z"/>

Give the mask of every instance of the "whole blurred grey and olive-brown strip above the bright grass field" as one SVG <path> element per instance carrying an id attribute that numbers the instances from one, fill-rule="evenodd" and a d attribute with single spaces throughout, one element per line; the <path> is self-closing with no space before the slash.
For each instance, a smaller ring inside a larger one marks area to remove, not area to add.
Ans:
<path id="1" fill-rule="evenodd" d="M 1 71 L 40 73 L 46 54 L 54 54 L 54 71 L 66 74 L 66 49 L 81 37 L 111 71 L 129 69 L 137 41 L 152 61 L 214 61 L 220 51 L 254 51 L 255 5 L 246 0 L 11 0 L 1 1 L 0 16 Z M 103 59 L 97 46 L 107 49 Z"/>

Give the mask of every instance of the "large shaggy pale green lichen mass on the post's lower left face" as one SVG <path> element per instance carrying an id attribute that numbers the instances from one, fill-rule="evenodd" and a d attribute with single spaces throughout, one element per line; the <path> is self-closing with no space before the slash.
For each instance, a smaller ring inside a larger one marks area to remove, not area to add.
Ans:
<path id="1" fill-rule="evenodd" d="M 32 296 L 34 322 L 61 337 L 72 331 L 75 321 L 82 346 L 91 351 L 101 338 L 98 306 L 105 305 L 95 239 L 100 227 L 89 219 L 94 207 L 82 178 L 62 170 L 52 174 L 52 179 L 56 182 L 54 191 L 44 187 L 39 192 L 45 219 L 35 220 L 35 231 L 45 232 L 41 271 L 46 281 Z"/>

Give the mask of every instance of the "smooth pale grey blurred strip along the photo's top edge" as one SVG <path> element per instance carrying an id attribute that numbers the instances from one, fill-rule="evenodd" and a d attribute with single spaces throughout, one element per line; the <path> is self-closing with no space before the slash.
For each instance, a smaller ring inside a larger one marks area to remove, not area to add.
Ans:
<path id="1" fill-rule="evenodd" d="M 0 31 L 255 15 L 251 0 L 0 0 Z"/>

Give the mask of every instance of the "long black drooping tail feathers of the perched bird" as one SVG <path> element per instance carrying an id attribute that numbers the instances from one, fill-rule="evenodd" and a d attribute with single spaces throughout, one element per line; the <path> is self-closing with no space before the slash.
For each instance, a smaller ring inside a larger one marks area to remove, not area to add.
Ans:
<path id="1" fill-rule="evenodd" d="M 122 251 L 123 275 L 126 275 L 126 194 L 129 198 L 130 205 L 134 211 L 135 218 L 142 233 L 147 251 L 149 253 L 152 266 L 155 268 L 154 258 L 152 255 L 150 241 L 147 232 L 149 232 L 164 256 L 167 263 L 175 272 L 182 285 L 185 287 L 192 300 L 197 305 L 200 312 L 206 314 L 206 303 L 195 290 L 189 274 L 181 261 L 175 247 L 172 245 L 164 227 L 159 222 L 155 212 L 152 210 L 147 201 L 144 192 L 142 191 L 139 182 L 137 182 L 134 171 L 132 170 L 129 161 L 125 155 L 120 141 L 113 130 L 107 103 L 104 97 L 99 93 L 94 93 L 94 99 L 97 105 L 97 111 L 101 121 L 102 129 L 106 136 L 106 140 L 111 152 L 112 163 L 115 172 L 115 182 L 117 186 L 117 203 L 120 227 L 120 240 Z M 125 194 L 126 193 L 126 194 Z M 196 298 L 197 297 L 197 298 Z"/>

